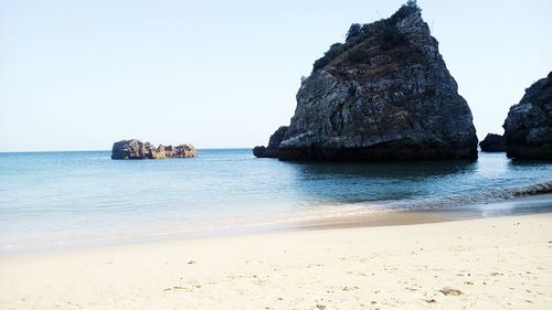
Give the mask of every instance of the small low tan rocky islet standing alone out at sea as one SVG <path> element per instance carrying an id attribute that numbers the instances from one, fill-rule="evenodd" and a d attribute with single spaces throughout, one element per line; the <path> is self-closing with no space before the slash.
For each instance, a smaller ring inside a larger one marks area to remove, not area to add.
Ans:
<path id="1" fill-rule="evenodd" d="M 161 146 L 157 148 L 150 142 L 141 142 L 137 139 L 121 140 L 113 143 L 112 159 L 161 159 L 161 158 L 185 158 L 195 157 L 195 148 L 192 145 Z"/>

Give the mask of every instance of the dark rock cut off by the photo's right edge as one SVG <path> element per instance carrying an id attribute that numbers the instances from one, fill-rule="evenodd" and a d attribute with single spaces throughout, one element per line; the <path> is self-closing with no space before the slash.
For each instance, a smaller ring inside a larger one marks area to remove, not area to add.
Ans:
<path id="1" fill-rule="evenodd" d="M 506 156 L 552 160 L 552 72 L 526 89 L 502 127 Z"/>

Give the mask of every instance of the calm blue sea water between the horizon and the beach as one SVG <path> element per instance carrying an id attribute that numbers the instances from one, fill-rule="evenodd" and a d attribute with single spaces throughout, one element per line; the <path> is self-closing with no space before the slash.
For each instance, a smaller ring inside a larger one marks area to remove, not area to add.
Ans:
<path id="1" fill-rule="evenodd" d="M 477 161 L 296 163 L 248 149 L 193 159 L 108 151 L 0 153 L 0 252 L 287 223 L 337 214 L 461 209 L 552 182 L 552 164 Z M 552 210 L 552 205 L 548 206 Z"/>

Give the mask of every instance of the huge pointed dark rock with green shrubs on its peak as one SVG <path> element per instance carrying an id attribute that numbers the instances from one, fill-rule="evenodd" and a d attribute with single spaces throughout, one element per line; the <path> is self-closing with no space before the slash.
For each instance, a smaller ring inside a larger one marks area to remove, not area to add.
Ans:
<path id="1" fill-rule="evenodd" d="M 278 158 L 476 159 L 471 111 L 437 45 L 412 1 L 351 25 L 302 81 Z"/>

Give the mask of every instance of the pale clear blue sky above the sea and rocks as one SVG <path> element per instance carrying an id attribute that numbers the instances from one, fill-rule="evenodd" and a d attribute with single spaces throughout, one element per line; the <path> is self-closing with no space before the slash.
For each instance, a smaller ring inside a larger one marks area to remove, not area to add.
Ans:
<path id="1" fill-rule="evenodd" d="M 0 151 L 266 145 L 353 22 L 404 1 L 0 0 Z M 479 139 L 552 70 L 552 1 L 418 0 Z"/>

